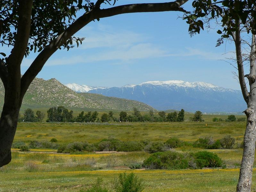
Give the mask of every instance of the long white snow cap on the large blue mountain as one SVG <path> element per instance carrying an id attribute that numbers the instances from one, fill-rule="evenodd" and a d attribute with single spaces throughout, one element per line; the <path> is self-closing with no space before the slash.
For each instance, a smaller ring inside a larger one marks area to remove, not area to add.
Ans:
<path id="1" fill-rule="evenodd" d="M 177 85 L 177 86 L 182 86 L 182 87 L 197 87 L 197 86 L 202 86 L 202 87 L 210 87 L 210 88 L 215 88 L 218 87 L 214 84 L 210 83 L 204 83 L 204 82 L 185 82 L 181 80 L 170 80 L 170 81 L 148 81 L 145 83 L 141 83 L 139 85 L 146 85 L 146 84 L 151 84 L 151 85 Z"/>

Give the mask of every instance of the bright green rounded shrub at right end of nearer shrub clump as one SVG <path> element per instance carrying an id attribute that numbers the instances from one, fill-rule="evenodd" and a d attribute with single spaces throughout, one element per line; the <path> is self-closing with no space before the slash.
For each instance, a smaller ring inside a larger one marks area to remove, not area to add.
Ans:
<path id="1" fill-rule="evenodd" d="M 192 155 L 195 158 L 197 166 L 202 167 L 221 167 L 222 160 L 217 154 L 208 151 L 199 151 Z"/>

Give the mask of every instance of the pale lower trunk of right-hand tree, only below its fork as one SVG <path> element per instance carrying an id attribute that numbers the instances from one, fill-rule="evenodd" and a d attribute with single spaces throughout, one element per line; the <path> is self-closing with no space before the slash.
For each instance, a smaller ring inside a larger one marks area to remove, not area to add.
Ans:
<path id="1" fill-rule="evenodd" d="M 239 180 L 236 186 L 237 192 L 250 192 L 252 185 L 252 168 L 256 141 L 256 108 L 248 108 L 246 109 L 245 113 L 247 116 L 247 125 L 244 133 L 243 158 L 240 167 Z"/>

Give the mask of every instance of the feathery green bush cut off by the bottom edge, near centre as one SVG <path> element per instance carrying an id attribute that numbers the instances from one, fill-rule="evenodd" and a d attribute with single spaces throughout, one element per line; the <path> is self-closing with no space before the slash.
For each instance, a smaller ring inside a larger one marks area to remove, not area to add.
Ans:
<path id="1" fill-rule="evenodd" d="M 144 189 L 144 182 L 134 173 L 120 173 L 118 179 L 114 180 L 114 188 L 116 192 L 141 192 Z"/>

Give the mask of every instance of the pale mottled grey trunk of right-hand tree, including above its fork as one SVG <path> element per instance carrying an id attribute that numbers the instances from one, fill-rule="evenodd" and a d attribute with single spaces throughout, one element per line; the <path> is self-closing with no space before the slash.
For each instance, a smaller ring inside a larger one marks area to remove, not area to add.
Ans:
<path id="1" fill-rule="evenodd" d="M 240 38 L 236 39 L 236 45 Z M 250 92 L 245 99 L 247 109 L 244 111 L 247 116 L 247 124 L 244 133 L 244 152 L 240 167 L 239 180 L 236 186 L 237 192 L 250 192 L 252 187 L 252 168 L 255 154 L 256 142 L 256 35 L 252 35 L 250 53 L 250 74 L 245 75 L 249 80 Z M 236 50 L 238 52 L 238 50 Z M 237 54 L 237 53 L 236 53 Z M 239 60 L 241 55 L 238 57 Z M 241 64 L 241 63 L 240 63 Z M 240 80 L 240 79 L 239 79 Z M 241 81 L 240 81 L 241 83 Z M 246 96 L 246 95 L 245 95 Z"/>

